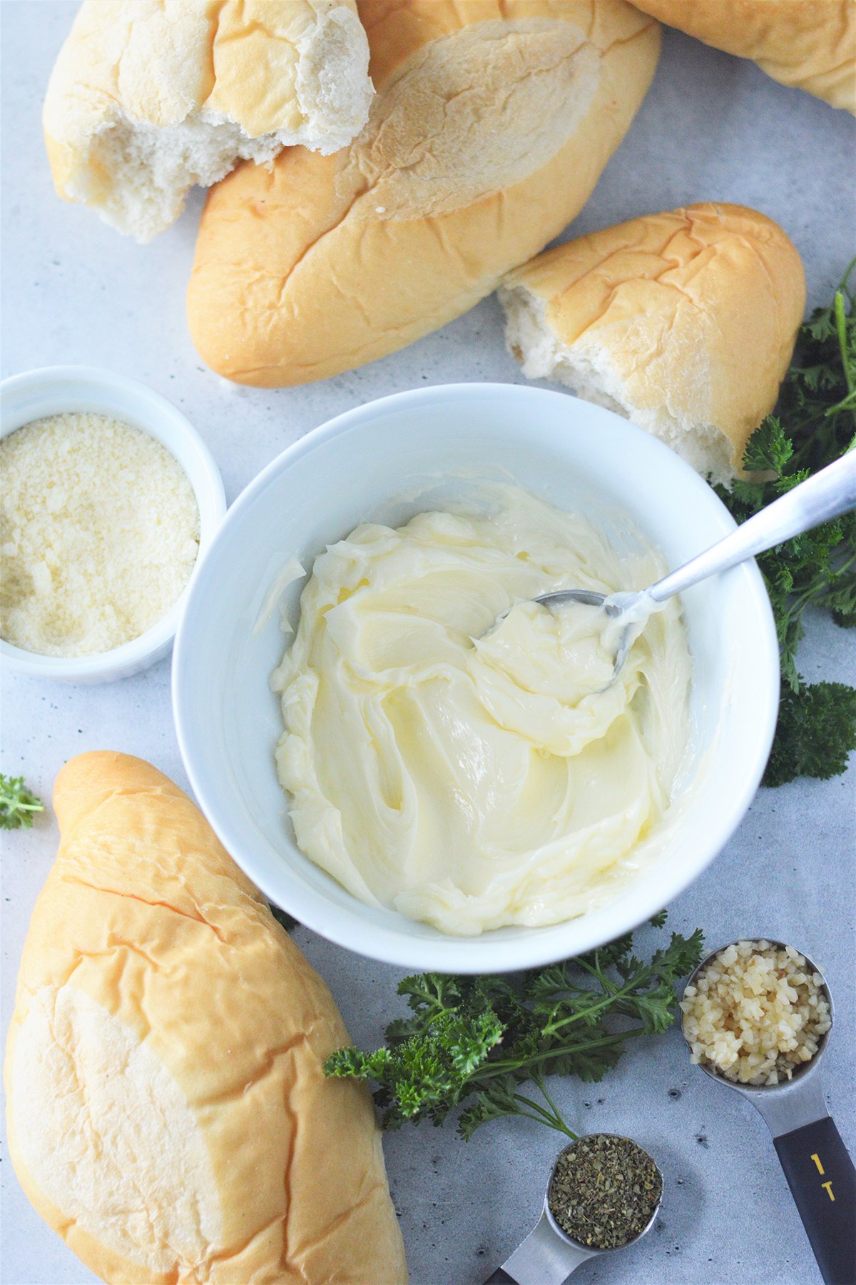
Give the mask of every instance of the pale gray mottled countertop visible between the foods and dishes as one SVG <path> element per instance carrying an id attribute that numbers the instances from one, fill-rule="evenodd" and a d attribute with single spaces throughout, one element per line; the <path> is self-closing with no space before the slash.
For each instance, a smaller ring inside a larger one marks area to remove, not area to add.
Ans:
<path id="1" fill-rule="evenodd" d="M 302 433 L 384 393 L 422 383 L 521 382 L 486 299 L 438 334 L 308 388 L 227 386 L 196 357 L 184 293 L 200 207 L 139 247 L 53 193 L 40 131 L 49 69 L 74 5 L 0 0 L 3 19 L 3 374 L 81 362 L 133 375 L 176 401 L 222 469 L 230 500 Z M 776 218 L 806 263 L 812 302 L 825 299 L 856 252 L 850 171 L 856 134 L 842 112 L 767 80 L 749 63 L 666 33 L 657 78 L 628 139 L 583 215 L 590 231 L 699 199 L 735 200 Z M 853 636 L 810 622 L 807 678 L 856 684 Z M 169 709 L 169 662 L 122 684 L 41 685 L 3 676 L 3 761 L 49 798 L 60 765 L 83 749 L 150 759 L 186 788 Z M 825 968 L 837 1002 L 825 1061 L 828 1100 L 856 1151 L 852 1067 L 856 768 L 832 781 L 761 790 L 707 873 L 670 907 L 671 925 L 705 929 L 711 946 L 773 933 Z M 33 901 L 56 848 L 50 815 L 5 840 L 3 1010 Z M 653 930 L 644 937 L 653 938 Z M 358 1042 L 381 1038 L 399 1009 L 400 973 L 349 955 L 305 929 L 295 938 L 325 975 Z M 688 1061 L 676 1031 L 639 1041 L 602 1085 L 557 1083 L 581 1130 L 630 1133 L 658 1158 L 665 1196 L 657 1228 L 638 1246 L 579 1271 L 621 1285 L 756 1285 L 820 1280 L 766 1128 L 735 1094 Z M 450 1127 L 386 1137 L 390 1185 L 413 1285 L 479 1285 L 534 1223 L 558 1135 L 498 1122 L 472 1142 Z M 95 1277 L 41 1222 L 5 1151 L 0 1169 L 4 1285 L 72 1285 Z M 376 1285 L 376 1282 L 366 1282 Z"/>

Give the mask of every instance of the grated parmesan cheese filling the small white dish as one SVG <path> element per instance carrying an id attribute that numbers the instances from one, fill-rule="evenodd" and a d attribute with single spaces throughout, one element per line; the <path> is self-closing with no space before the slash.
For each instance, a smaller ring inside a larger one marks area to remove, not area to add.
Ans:
<path id="1" fill-rule="evenodd" d="M 94 655 L 155 625 L 199 553 L 190 481 L 148 433 L 50 415 L 0 441 L 0 635 Z"/>

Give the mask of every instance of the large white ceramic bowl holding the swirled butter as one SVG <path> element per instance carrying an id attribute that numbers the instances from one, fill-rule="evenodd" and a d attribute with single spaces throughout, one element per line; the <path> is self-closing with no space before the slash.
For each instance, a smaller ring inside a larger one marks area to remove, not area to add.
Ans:
<path id="1" fill-rule="evenodd" d="M 290 834 L 273 766 L 282 723 L 268 687 L 284 637 L 276 613 L 257 632 L 254 625 L 289 555 L 311 567 L 326 544 L 364 519 L 399 524 L 441 505 L 444 495 L 465 486 L 462 475 L 512 477 L 560 508 L 583 508 L 607 527 L 624 522 L 626 529 L 630 517 L 670 567 L 734 528 L 711 488 L 672 451 L 569 394 L 452 384 L 385 397 L 302 438 L 232 506 L 190 591 L 176 642 L 173 707 L 201 807 L 271 901 L 375 959 L 441 973 L 507 971 L 610 941 L 658 911 L 712 861 L 766 763 L 779 657 L 753 564 L 684 595 L 694 768 L 703 771 L 662 856 L 604 908 L 551 928 L 504 928 L 467 938 L 363 906 L 308 861 Z M 425 486 L 432 490 L 413 499 Z M 293 621 L 300 587 L 289 590 Z"/>

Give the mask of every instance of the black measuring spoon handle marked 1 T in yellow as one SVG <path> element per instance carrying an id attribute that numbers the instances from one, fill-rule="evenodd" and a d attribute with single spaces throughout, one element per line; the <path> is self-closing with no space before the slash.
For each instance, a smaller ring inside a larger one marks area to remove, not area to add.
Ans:
<path id="1" fill-rule="evenodd" d="M 774 1139 L 826 1285 L 856 1282 L 856 1169 L 830 1115 Z"/>

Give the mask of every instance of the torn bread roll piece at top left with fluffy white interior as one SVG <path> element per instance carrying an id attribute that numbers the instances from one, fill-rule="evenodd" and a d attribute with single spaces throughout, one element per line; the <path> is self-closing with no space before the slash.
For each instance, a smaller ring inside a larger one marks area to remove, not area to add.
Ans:
<path id="1" fill-rule="evenodd" d="M 367 68 L 354 0 L 83 0 L 45 99 L 54 184 L 148 242 L 237 159 L 350 143 Z"/>

